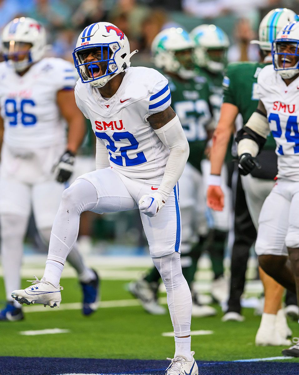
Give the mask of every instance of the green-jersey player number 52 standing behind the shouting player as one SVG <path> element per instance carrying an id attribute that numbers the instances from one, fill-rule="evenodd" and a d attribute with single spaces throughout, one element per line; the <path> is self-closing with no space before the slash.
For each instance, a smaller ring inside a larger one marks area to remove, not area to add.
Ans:
<path id="1" fill-rule="evenodd" d="M 206 202 L 201 175 L 201 160 L 207 142 L 207 129 L 212 122 L 209 84 L 205 77 L 195 75 L 192 62 L 194 43 L 182 28 L 168 28 L 153 40 L 152 53 L 157 68 L 167 77 L 171 91 L 171 107 L 179 116 L 189 142 L 190 154 L 179 180 L 180 212 L 182 217 L 181 264 L 183 275 L 192 291 L 192 282 L 200 255 L 199 235 L 206 236 Z M 154 267 L 143 279 L 129 284 L 129 290 L 141 300 L 152 314 L 164 308 L 155 300 L 160 275 Z M 193 293 L 192 316 L 215 315 L 211 306 L 200 305 Z"/>

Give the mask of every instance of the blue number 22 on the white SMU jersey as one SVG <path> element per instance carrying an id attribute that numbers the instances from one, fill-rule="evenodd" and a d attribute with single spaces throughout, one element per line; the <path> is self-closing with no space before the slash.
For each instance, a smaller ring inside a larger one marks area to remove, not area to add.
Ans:
<path id="1" fill-rule="evenodd" d="M 146 157 L 145 157 L 145 155 L 142 151 L 137 152 L 136 157 L 129 158 L 129 156 L 127 154 L 127 151 L 137 150 L 138 145 L 139 145 L 139 143 L 137 142 L 137 139 L 134 137 L 134 135 L 132 133 L 129 133 L 129 132 L 114 133 L 113 136 L 112 136 L 113 139 L 111 139 L 110 136 L 107 135 L 106 133 L 96 132 L 95 134 L 98 138 L 101 138 L 103 140 L 108 141 L 108 144 L 106 145 L 106 147 L 109 151 L 111 162 L 113 162 L 117 165 L 123 165 L 123 158 L 124 158 L 126 166 L 134 166 L 134 165 L 143 164 L 147 161 Z M 115 153 L 116 150 L 117 150 L 117 147 L 115 146 L 114 141 L 119 142 L 122 139 L 128 139 L 128 141 L 130 142 L 130 145 L 125 145 L 125 146 L 122 146 L 122 147 L 119 148 L 121 156 L 119 156 L 119 155 L 117 155 L 115 157 L 112 156 L 110 151 Z"/>

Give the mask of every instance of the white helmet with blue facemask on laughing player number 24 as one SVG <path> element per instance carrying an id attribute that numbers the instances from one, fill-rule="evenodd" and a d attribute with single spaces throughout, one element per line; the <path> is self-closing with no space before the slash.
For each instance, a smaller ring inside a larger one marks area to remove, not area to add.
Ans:
<path id="1" fill-rule="evenodd" d="M 287 45 L 290 45 L 293 52 L 285 52 Z M 286 66 L 294 57 L 294 65 Z M 274 69 L 282 78 L 288 79 L 299 74 L 299 21 L 292 21 L 279 31 L 272 43 L 272 58 Z"/>

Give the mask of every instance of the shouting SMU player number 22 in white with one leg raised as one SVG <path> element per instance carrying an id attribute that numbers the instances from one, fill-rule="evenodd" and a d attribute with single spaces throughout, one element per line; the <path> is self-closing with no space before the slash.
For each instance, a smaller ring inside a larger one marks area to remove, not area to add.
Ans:
<path id="1" fill-rule="evenodd" d="M 54 220 L 44 277 L 12 292 L 23 303 L 59 306 L 60 275 L 77 239 L 80 214 L 139 208 L 150 255 L 167 291 L 176 351 L 166 374 L 198 374 L 191 352 L 192 300 L 180 264 L 177 181 L 189 155 L 167 79 L 155 69 L 131 68 L 129 42 L 110 23 L 94 23 L 78 37 L 74 62 L 81 80 L 78 107 L 96 135 L 96 168 L 63 192 Z M 47 293 L 48 292 L 48 293 Z M 30 295 L 29 295 L 29 294 Z"/>

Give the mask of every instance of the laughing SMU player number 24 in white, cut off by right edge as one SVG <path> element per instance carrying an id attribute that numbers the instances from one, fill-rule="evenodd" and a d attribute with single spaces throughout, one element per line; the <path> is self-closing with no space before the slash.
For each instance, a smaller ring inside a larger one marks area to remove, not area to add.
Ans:
<path id="1" fill-rule="evenodd" d="M 257 110 L 237 135 L 239 169 L 246 175 L 259 167 L 256 156 L 271 131 L 278 175 L 261 209 L 255 251 L 262 269 L 285 288 L 297 290 L 299 301 L 299 21 L 279 31 L 272 57 L 273 65 L 258 75 Z M 298 341 L 282 353 L 299 357 Z"/>

